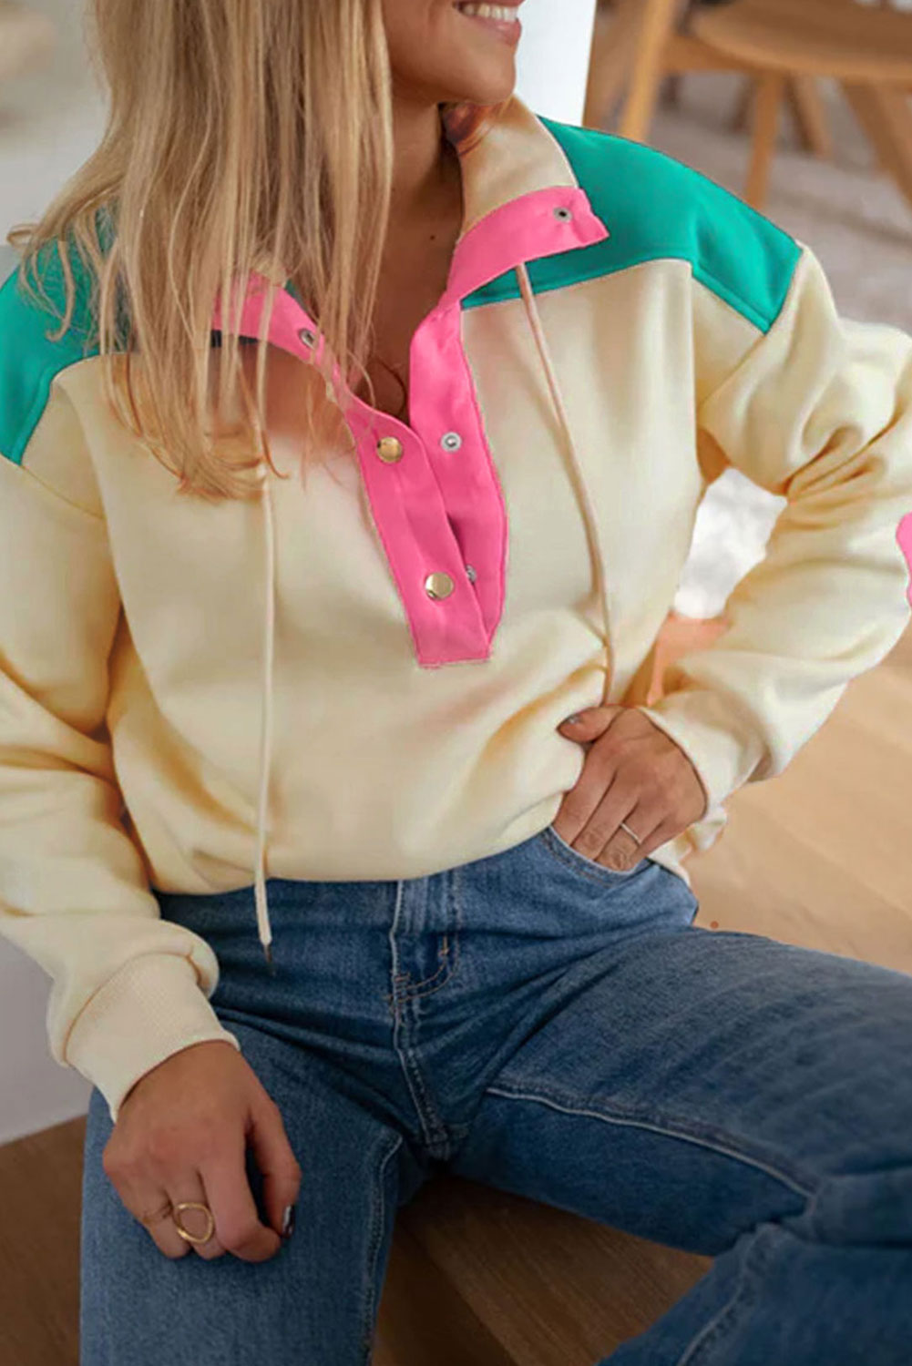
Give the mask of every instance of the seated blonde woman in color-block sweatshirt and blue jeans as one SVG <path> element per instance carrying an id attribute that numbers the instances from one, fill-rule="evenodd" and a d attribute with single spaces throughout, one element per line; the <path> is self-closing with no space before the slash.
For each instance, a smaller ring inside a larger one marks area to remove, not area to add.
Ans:
<path id="1" fill-rule="evenodd" d="M 908 624 L 912 339 L 536 117 L 509 8 L 96 0 L 18 235 L 0 904 L 93 1083 L 83 1366 L 369 1361 L 442 1168 L 715 1257 L 611 1363 L 905 1361 L 912 981 L 682 861 Z M 645 705 L 729 463 L 788 508 Z"/>

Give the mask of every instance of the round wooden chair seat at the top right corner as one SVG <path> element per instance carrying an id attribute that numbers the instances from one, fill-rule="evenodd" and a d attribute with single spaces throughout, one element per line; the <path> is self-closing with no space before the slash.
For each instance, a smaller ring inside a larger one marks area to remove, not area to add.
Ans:
<path id="1" fill-rule="evenodd" d="M 856 0 L 737 0 L 697 8 L 689 31 L 738 61 L 912 89 L 912 15 Z"/>

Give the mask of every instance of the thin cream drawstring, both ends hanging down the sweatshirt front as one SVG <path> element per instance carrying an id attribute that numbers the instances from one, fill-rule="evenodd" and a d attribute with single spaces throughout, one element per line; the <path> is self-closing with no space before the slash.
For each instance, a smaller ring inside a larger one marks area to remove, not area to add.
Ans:
<path id="1" fill-rule="evenodd" d="M 554 402 L 555 411 L 558 414 L 558 421 L 563 432 L 570 459 L 576 471 L 577 479 L 577 496 L 582 507 L 582 515 L 587 523 L 587 530 L 589 535 L 589 548 L 592 552 L 592 561 L 595 567 L 596 586 L 599 591 L 599 601 L 602 605 L 602 622 L 604 627 L 604 647 L 606 647 L 606 671 L 604 683 L 602 690 L 602 705 L 607 703 L 611 668 L 610 668 L 610 630 L 608 630 L 608 594 L 604 581 L 604 556 L 602 555 L 602 542 L 599 537 L 598 519 L 595 510 L 592 507 L 592 499 L 587 482 L 582 477 L 582 469 L 580 464 L 580 458 L 577 455 L 576 444 L 573 441 L 573 433 L 570 432 L 570 423 L 567 421 L 566 410 L 563 407 L 563 399 L 561 398 L 561 387 L 558 385 L 554 365 L 551 362 L 551 355 L 548 352 L 548 344 L 544 339 L 544 329 L 541 326 L 541 318 L 535 302 L 535 294 L 529 283 L 529 272 L 526 270 L 525 262 L 517 266 L 517 277 L 520 280 L 520 292 L 522 295 L 522 302 L 525 305 L 525 314 L 529 320 L 532 333 L 535 336 L 536 347 L 541 358 L 541 365 L 548 380 L 548 388 L 551 391 L 551 399 Z M 267 840 L 267 814 L 268 814 L 268 792 L 269 792 L 269 772 L 272 759 L 272 675 L 273 675 L 273 656 L 275 656 L 275 523 L 272 511 L 272 497 L 269 493 L 269 478 L 268 474 L 263 481 L 263 507 L 265 511 L 265 578 L 267 578 L 267 622 L 265 622 L 265 641 L 264 641 L 264 664 L 263 664 L 263 724 L 260 736 L 260 800 L 257 810 L 257 852 L 256 852 L 256 877 L 254 877 L 254 897 L 257 906 L 257 926 L 260 932 L 260 943 L 263 944 L 263 952 L 265 960 L 269 966 L 269 971 L 275 973 L 275 964 L 272 962 L 272 951 L 269 945 L 272 944 L 272 928 L 269 925 L 269 903 L 267 899 L 267 882 L 265 882 L 265 840 Z"/>

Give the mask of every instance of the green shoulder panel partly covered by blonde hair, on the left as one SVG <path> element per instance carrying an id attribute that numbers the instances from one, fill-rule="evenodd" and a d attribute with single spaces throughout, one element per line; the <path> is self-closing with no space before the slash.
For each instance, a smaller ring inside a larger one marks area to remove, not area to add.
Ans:
<path id="1" fill-rule="evenodd" d="M 12 257 L 12 261 L 10 261 Z M 70 251 L 75 302 L 70 328 L 59 342 L 49 340 L 60 331 L 66 311 L 66 280 L 56 246 L 38 254 L 38 275 L 53 302 L 52 313 L 42 301 L 33 299 L 21 283 L 19 255 L 4 254 L 0 262 L 0 456 L 22 464 L 26 447 L 48 403 L 53 377 L 70 365 L 98 354 L 88 344 L 90 280 L 79 254 Z M 12 266 L 12 269 L 10 269 Z M 34 288 L 36 281 L 30 279 Z"/>

